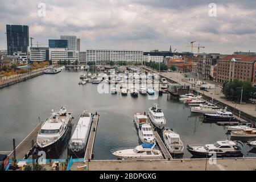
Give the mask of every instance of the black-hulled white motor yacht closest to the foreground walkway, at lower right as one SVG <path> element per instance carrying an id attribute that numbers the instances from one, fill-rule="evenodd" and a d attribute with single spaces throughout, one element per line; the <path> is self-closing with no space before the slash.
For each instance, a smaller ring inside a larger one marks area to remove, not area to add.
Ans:
<path id="1" fill-rule="evenodd" d="M 200 158 L 210 158 L 216 154 L 216 158 L 236 158 L 242 157 L 241 148 L 230 140 L 218 141 L 214 144 L 205 144 L 205 146 L 187 146 L 187 150 Z"/>

